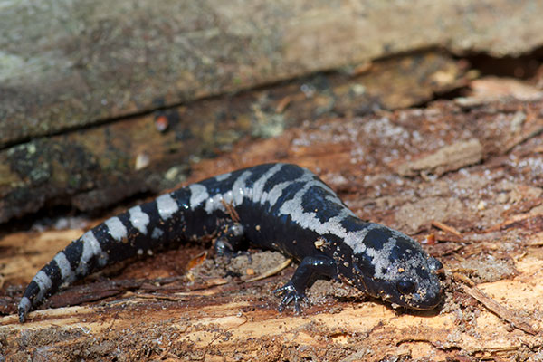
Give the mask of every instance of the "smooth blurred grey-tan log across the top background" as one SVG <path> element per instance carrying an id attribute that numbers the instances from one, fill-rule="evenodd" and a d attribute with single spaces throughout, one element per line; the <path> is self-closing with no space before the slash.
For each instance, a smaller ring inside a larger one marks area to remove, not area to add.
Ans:
<path id="1" fill-rule="evenodd" d="M 0 148 L 402 52 L 518 56 L 538 0 L 5 1 Z"/>

